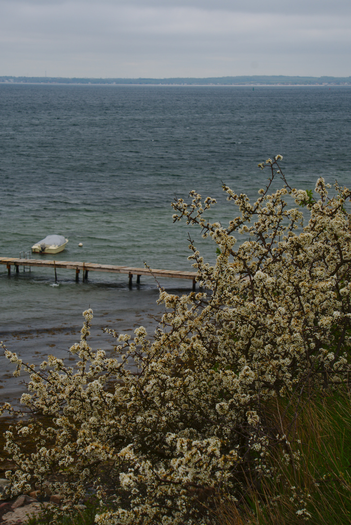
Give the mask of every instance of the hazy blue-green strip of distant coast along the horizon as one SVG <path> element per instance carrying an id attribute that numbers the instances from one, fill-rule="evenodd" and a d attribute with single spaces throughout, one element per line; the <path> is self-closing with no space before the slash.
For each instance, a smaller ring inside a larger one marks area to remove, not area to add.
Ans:
<path id="1" fill-rule="evenodd" d="M 0 76 L 5 84 L 72 84 L 93 86 L 351 86 L 351 77 L 240 76 L 206 78 L 68 78 Z"/>

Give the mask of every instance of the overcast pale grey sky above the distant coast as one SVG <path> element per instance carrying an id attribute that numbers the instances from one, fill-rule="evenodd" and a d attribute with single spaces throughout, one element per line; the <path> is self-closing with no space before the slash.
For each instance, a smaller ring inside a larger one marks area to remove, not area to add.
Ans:
<path id="1" fill-rule="evenodd" d="M 0 0 L 0 76 L 351 75 L 346 0 Z"/>

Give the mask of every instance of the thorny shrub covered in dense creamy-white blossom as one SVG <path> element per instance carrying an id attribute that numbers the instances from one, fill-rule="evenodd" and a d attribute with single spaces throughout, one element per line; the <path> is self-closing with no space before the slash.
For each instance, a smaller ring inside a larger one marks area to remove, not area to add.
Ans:
<path id="1" fill-rule="evenodd" d="M 274 441 L 291 460 L 288 438 L 270 428 L 262 407 L 306 384 L 348 381 L 351 192 L 335 184 L 329 197 L 323 178 L 317 198 L 295 190 L 281 159 L 259 165 L 270 178 L 252 204 L 223 186 L 238 208 L 228 227 L 203 218 L 214 199 L 191 192 L 188 203 L 172 204 L 174 221 L 199 226 L 220 253 L 212 266 L 190 241 L 206 291 L 178 297 L 161 289 L 166 313 L 152 338 L 143 327 L 133 340 L 105 330 L 116 339 L 115 355 L 93 351 L 89 309 L 70 349 L 75 367 L 49 356 L 36 369 L 5 350 L 15 374 L 29 372 L 22 403 L 33 415 L 7 433 L 18 466 L 7 474 L 13 491 L 50 475 L 52 492 L 74 509 L 108 470 L 116 502 L 95 518 L 100 525 L 205 524 L 220 493 L 239 501 L 245 477 L 270 475 L 265 458 Z M 269 193 L 278 177 L 283 187 Z M 310 214 L 306 225 L 291 197 Z M 247 240 L 236 248 L 240 235 Z M 29 434 L 33 454 L 23 444 Z M 60 475 L 64 481 L 55 481 Z"/>

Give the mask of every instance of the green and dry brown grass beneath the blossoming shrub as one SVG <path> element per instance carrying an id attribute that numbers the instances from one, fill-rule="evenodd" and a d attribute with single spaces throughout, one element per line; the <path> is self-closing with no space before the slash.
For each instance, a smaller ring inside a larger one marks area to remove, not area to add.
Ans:
<path id="1" fill-rule="evenodd" d="M 351 523 L 351 399 L 347 391 L 309 400 L 299 413 L 272 409 L 291 447 L 270 451 L 270 478 L 248 489 L 244 504 L 220 500 L 220 525 L 349 525 Z M 291 424 L 293 422 L 293 425 Z M 283 453 L 285 452 L 285 459 Z M 287 458 L 287 459 L 286 459 Z M 290 459 L 289 459 L 290 458 Z M 252 484 L 248 484 L 248 486 Z"/>

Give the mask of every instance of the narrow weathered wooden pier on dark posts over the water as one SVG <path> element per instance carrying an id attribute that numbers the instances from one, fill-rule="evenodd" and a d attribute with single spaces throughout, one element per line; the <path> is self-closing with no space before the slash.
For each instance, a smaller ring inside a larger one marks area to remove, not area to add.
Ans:
<path id="1" fill-rule="evenodd" d="M 129 266 L 115 266 L 111 264 L 97 264 L 95 262 L 79 262 L 79 261 L 62 261 L 62 260 L 47 260 L 47 259 L 16 259 L 14 257 L 0 257 L 0 264 L 6 265 L 7 273 L 11 275 L 11 266 L 14 267 L 18 274 L 19 267 L 37 266 L 40 268 L 54 268 L 55 281 L 57 281 L 57 268 L 65 268 L 76 271 L 76 282 L 79 281 L 79 274 L 82 271 L 83 281 L 88 278 L 89 271 L 107 271 L 111 274 L 127 274 L 129 276 L 129 286 L 132 286 L 133 275 L 136 275 L 136 282 L 140 282 L 141 275 L 149 277 L 167 277 L 173 279 L 191 279 L 193 281 L 193 290 L 195 290 L 196 271 L 183 270 L 159 270 L 156 268 L 134 268 Z"/>

